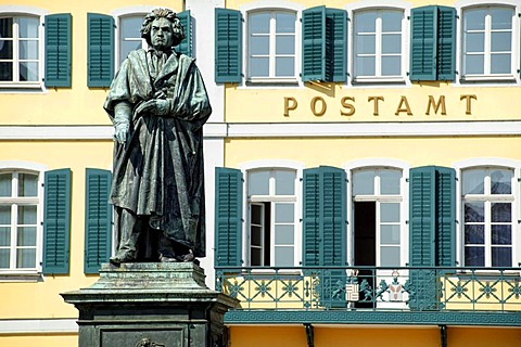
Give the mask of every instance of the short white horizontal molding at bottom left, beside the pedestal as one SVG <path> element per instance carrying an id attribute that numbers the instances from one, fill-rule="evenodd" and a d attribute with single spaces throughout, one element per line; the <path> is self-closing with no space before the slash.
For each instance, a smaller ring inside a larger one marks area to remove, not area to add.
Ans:
<path id="1" fill-rule="evenodd" d="M 0 335 L 78 333 L 77 319 L 0 320 Z"/>

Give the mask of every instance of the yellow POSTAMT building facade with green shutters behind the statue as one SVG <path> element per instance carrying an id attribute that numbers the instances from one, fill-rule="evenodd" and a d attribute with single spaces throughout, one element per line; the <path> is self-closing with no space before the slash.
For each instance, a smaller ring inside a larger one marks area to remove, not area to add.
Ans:
<path id="1" fill-rule="evenodd" d="M 521 340 L 520 11 L 504 1 L 0 3 L 0 339 L 77 345 L 113 252 L 118 65 L 178 12 L 230 346 Z"/>

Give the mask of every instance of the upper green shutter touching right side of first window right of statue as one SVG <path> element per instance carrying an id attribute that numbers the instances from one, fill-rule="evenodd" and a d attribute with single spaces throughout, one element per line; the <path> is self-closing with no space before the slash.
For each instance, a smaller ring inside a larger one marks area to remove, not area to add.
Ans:
<path id="1" fill-rule="evenodd" d="M 302 12 L 302 80 L 326 80 L 326 7 Z"/>

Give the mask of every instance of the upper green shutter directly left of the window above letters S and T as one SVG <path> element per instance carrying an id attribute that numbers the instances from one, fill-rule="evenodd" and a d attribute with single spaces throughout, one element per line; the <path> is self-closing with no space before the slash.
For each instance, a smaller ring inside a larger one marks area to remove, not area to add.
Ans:
<path id="1" fill-rule="evenodd" d="M 326 9 L 326 81 L 346 80 L 347 14 L 344 10 Z"/>

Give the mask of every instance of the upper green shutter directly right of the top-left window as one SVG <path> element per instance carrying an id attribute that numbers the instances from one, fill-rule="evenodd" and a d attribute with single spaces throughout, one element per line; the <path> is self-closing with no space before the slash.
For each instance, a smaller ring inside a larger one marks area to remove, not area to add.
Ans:
<path id="1" fill-rule="evenodd" d="M 71 87 L 72 16 L 46 15 L 46 87 Z"/>

